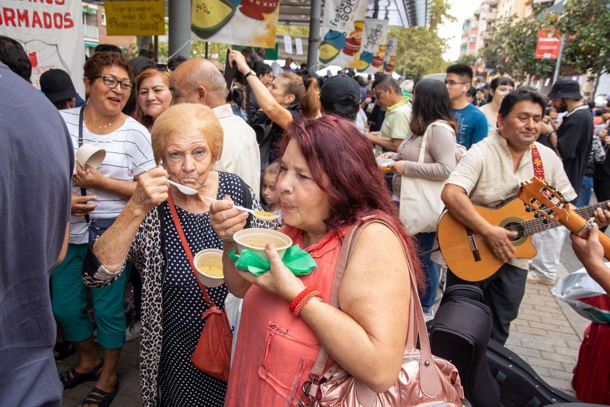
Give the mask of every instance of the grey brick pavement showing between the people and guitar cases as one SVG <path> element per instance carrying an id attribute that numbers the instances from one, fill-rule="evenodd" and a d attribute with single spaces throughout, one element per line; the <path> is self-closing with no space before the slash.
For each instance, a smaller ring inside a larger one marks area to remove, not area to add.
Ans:
<path id="1" fill-rule="evenodd" d="M 558 275 L 565 274 L 567 270 L 560 264 Z M 574 395 L 570 381 L 587 325 L 587 320 L 553 297 L 551 286 L 527 283 L 519 317 L 511 325 L 506 345 L 525 359 L 548 384 Z M 142 405 L 138 351 L 139 340 L 127 342 L 123 347 L 118 366 L 120 389 L 113 406 Z M 74 366 L 76 361 L 76 356 L 71 356 L 59 362 L 58 372 Z M 95 383 L 88 382 L 65 391 L 63 407 L 81 406 L 93 384 Z"/>

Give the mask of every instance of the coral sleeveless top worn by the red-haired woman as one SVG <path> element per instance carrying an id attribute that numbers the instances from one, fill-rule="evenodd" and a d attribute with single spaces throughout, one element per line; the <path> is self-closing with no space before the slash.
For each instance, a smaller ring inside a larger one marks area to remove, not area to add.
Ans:
<path id="1" fill-rule="evenodd" d="M 305 286 L 320 291 L 326 303 L 331 300 L 339 251 L 348 230 L 329 232 L 307 248 L 303 248 L 301 229 L 286 226 L 284 230 L 294 244 L 314 258 L 318 267 L 300 278 Z M 303 399 L 303 383 L 318 357 L 320 342 L 288 306 L 283 298 L 255 285 L 246 293 L 225 407 L 295 407 Z M 332 364 L 334 360 L 329 357 L 326 367 Z"/>

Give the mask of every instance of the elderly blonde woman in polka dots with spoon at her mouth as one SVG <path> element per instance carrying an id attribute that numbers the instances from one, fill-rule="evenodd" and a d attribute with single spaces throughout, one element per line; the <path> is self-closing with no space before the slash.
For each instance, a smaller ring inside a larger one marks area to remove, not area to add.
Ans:
<path id="1" fill-rule="evenodd" d="M 144 406 L 222 406 L 226 383 L 190 361 L 203 329 L 207 309 L 182 247 L 169 195 L 193 254 L 206 248 L 223 249 L 223 239 L 210 227 L 210 201 L 231 196 L 236 204 L 260 210 L 252 190 L 234 174 L 212 171 L 223 149 L 223 129 L 209 107 L 179 104 L 163 112 L 152 127 L 152 150 L 159 164 L 138 179 L 125 209 L 89 251 L 84 281 L 110 284 L 132 260 L 142 276 L 142 339 L 140 382 Z M 184 195 L 171 181 L 196 189 Z M 233 219 L 248 222 L 241 212 Z M 255 227 L 273 227 L 257 224 Z M 207 288 L 210 299 L 223 304 L 223 284 Z M 160 394 L 159 394 L 160 392 Z"/>

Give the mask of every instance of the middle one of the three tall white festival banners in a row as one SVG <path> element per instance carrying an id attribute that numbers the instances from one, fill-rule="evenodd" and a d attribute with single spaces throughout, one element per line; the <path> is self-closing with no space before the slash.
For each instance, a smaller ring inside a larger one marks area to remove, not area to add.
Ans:
<path id="1" fill-rule="evenodd" d="M 364 37 L 358 62 L 358 71 L 375 73 L 383 69 L 387 46 L 387 20 L 364 20 Z"/>

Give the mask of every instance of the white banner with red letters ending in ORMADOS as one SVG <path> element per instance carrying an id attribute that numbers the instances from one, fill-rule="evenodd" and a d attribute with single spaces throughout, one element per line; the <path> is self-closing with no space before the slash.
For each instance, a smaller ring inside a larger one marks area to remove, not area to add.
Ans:
<path id="1" fill-rule="evenodd" d="M 56 68 L 66 71 L 76 91 L 85 95 L 82 66 L 85 45 L 82 2 L 4 2 L 0 15 L 0 35 L 13 38 L 26 50 L 32 62 L 31 81 L 40 89 L 40 75 Z"/>

